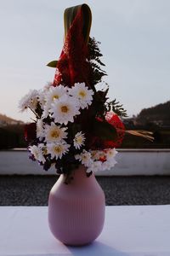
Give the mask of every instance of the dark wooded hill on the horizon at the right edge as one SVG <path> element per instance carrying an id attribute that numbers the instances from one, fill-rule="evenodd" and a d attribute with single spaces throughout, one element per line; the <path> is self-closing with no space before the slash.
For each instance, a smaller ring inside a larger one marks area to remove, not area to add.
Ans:
<path id="1" fill-rule="evenodd" d="M 170 101 L 142 109 L 136 120 L 143 124 L 170 125 Z"/>

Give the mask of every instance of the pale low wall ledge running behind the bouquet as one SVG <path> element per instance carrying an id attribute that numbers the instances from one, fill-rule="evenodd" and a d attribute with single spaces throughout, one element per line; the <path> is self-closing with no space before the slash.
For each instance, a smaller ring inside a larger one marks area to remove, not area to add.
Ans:
<path id="1" fill-rule="evenodd" d="M 119 149 L 117 164 L 110 171 L 97 172 L 100 176 L 170 175 L 170 149 Z M 26 149 L 0 151 L 0 175 L 48 175 L 42 166 L 28 158 Z"/>

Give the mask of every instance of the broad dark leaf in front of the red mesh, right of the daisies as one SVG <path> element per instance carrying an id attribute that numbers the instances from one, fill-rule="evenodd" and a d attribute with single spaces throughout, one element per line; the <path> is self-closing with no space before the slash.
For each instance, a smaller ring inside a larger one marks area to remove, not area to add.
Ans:
<path id="1" fill-rule="evenodd" d="M 116 139 L 116 128 L 108 122 L 95 119 L 92 127 L 95 136 L 108 141 Z"/>

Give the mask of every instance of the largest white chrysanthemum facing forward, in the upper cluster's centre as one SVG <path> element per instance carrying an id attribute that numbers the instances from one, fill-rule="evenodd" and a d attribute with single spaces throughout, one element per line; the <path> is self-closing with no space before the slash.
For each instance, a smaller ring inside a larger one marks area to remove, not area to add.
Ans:
<path id="1" fill-rule="evenodd" d="M 77 101 L 71 96 L 62 96 L 58 101 L 54 101 L 51 108 L 54 121 L 59 124 L 67 125 L 68 122 L 74 122 L 74 116 L 79 114 Z"/>

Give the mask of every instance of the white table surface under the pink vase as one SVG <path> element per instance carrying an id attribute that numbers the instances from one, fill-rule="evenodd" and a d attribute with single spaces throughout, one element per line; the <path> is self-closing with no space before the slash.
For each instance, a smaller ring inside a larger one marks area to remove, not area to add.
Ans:
<path id="1" fill-rule="evenodd" d="M 170 206 L 106 207 L 105 228 L 86 247 L 48 230 L 48 207 L 0 207 L 0 256 L 169 256 Z"/>

